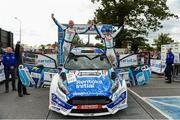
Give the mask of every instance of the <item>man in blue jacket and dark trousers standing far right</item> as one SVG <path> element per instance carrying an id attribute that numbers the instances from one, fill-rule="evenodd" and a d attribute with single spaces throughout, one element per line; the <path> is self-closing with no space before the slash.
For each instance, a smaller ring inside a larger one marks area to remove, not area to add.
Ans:
<path id="1" fill-rule="evenodd" d="M 165 69 L 165 75 L 167 77 L 167 83 L 171 83 L 172 80 L 172 71 L 173 71 L 173 64 L 174 64 L 174 54 L 171 52 L 171 48 L 168 49 L 167 57 L 166 57 L 166 69 Z"/>

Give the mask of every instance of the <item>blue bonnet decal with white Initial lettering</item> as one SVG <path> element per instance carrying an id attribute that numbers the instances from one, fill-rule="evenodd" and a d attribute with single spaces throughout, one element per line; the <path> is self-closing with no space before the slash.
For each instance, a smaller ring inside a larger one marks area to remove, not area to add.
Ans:
<path id="1" fill-rule="evenodd" d="M 105 95 L 109 97 L 111 89 L 111 80 L 108 76 L 101 75 L 99 76 L 76 76 L 76 82 L 68 84 L 68 90 L 71 95 L 68 95 L 69 98 L 73 96 L 97 96 Z"/>

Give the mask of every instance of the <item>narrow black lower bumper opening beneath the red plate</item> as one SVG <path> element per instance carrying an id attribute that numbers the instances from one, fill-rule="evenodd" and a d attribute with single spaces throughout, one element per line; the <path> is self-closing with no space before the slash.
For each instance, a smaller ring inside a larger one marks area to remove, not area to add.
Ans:
<path id="1" fill-rule="evenodd" d="M 105 112 L 108 112 L 107 108 L 85 109 L 85 110 L 72 109 L 71 111 L 71 113 L 105 113 Z"/>

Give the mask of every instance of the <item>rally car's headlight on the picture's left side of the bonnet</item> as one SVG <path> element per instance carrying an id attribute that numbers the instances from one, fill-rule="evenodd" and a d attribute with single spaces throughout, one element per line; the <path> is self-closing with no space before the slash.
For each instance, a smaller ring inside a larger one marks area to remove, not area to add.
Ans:
<path id="1" fill-rule="evenodd" d="M 62 72 L 59 76 L 58 87 L 64 94 L 68 94 L 69 91 L 65 83 L 66 83 L 66 74 Z"/>

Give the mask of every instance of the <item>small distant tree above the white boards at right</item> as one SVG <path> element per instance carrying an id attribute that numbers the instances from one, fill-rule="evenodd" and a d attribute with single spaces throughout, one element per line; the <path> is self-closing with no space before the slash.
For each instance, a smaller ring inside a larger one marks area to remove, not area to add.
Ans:
<path id="1" fill-rule="evenodd" d="M 170 44 L 172 42 L 174 42 L 174 40 L 169 37 L 169 34 L 161 33 L 157 39 L 154 39 L 154 43 L 158 51 L 161 51 L 161 45 Z"/>

